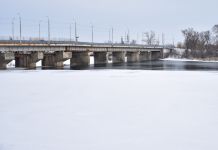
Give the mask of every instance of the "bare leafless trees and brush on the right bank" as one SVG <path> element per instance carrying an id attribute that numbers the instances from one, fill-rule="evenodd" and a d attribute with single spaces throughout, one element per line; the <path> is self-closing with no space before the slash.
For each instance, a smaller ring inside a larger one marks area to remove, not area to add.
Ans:
<path id="1" fill-rule="evenodd" d="M 218 58 L 218 25 L 211 30 L 198 32 L 193 28 L 182 30 L 184 42 L 178 48 L 186 49 L 186 58 Z"/>

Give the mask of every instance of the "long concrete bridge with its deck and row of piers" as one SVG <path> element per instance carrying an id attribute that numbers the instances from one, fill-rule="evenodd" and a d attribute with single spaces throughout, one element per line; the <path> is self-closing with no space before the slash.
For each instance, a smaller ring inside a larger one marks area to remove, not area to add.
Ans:
<path id="1" fill-rule="evenodd" d="M 42 60 L 42 67 L 62 68 L 70 59 L 71 68 L 87 67 L 90 55 L 95 65 L 108 63 L 108 54 L 113 63 L 158 60 L 163 56 L 162 46 L 85 43 L 66 41 L 0 41 L 0 68 L 15 60 L 15 67 L 33 69 Z"/>

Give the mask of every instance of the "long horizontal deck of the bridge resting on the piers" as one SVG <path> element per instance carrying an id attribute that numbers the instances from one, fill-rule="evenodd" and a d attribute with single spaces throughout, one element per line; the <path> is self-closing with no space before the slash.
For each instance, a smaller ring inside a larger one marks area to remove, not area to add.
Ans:
<path id="1" fill-rule="evenodd" d="M 157 45 L 131 45 L 110 43 L 86 43 L 86 42 L 60 42 L 51 41 L 0 41 L 0 52 L 29 52 L 29 51 L 90 51 L 90 52 L 113 52 L 113 51 L 161 51 L 164 47 Z"/>

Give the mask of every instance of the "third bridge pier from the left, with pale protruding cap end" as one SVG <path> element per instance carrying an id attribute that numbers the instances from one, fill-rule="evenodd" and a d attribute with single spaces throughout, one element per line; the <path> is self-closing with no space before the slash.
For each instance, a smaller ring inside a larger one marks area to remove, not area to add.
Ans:
<path id="1" fill-rule="evenodd" d="M 64 61 L 71 59 L 71 52 L 54 52 L 44 54 L 44 59 L 42 60 L 42 67 L 51 67 L 51 68 L 63 68 Z"/>

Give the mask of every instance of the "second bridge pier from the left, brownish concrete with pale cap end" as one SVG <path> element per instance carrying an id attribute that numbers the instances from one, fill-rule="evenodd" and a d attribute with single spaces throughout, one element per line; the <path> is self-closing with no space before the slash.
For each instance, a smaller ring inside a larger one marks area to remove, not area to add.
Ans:
<path id="1" fill-rule="evenodd" d="M 43 52 L 31 52 L 27 54 L 16 54 L 15 67 L 36 68 L 36 63 L 43 59 Z"/>

